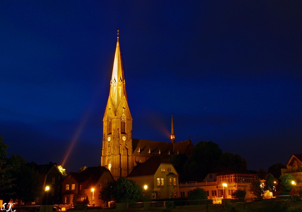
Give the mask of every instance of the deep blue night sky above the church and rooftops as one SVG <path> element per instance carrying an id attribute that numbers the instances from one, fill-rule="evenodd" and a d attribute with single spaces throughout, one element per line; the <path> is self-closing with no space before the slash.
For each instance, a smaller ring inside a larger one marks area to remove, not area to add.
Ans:
<path id="1" fill-rule="evenodd" d="M 302 1 L 0 1 L 0 135 L 100 164 L 117 30 L 133 138 L 213 141 L 248 168 L 302 151 Z"/>

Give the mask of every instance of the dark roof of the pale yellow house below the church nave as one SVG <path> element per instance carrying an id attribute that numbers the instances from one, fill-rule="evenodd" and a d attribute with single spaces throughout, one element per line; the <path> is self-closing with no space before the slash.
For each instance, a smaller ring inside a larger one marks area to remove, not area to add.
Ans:
<path id="1" fill-rule="evenodd" d="M 161 164 L 171 163 L 165 157 L 150 157 L 146 162 L 134 167 L 127 177 L 153 176 Z"/>

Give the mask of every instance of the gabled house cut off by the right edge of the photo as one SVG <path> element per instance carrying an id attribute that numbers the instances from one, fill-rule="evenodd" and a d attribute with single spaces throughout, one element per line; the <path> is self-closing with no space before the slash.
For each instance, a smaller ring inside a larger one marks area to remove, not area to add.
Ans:
<path id="1" fill-rule="evenodd" d="M 295 178 L 292 194 L 302 194 L 302 154 L 293 154 L 286 164 L 286 169 L 281 169 L 281 174 L 291 174 Z"/>

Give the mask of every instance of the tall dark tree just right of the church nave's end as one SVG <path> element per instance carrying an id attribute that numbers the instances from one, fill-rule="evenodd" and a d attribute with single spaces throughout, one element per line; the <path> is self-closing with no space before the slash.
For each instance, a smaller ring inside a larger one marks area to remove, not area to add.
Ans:
<path id="1" fill-rule="evenodd" d="M 185 163 L 184 169 L 191 176 L 191 180 L 202 180 L 217 164 L 222 154 L 219 145 L 214 142 L 198 142 L 193 148 L 192 155 Z"/>

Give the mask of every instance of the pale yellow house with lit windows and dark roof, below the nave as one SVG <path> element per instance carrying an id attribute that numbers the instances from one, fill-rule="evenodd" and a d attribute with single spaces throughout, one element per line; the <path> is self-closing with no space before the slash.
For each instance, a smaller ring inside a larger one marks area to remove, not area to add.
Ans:
<path id="1" fill-rule="evenodd" d="M 178 173 L 165 157 L 150 157 L 138 164 L 127 176 L 146 187 L 150 199 L 178 198 Z"/>

